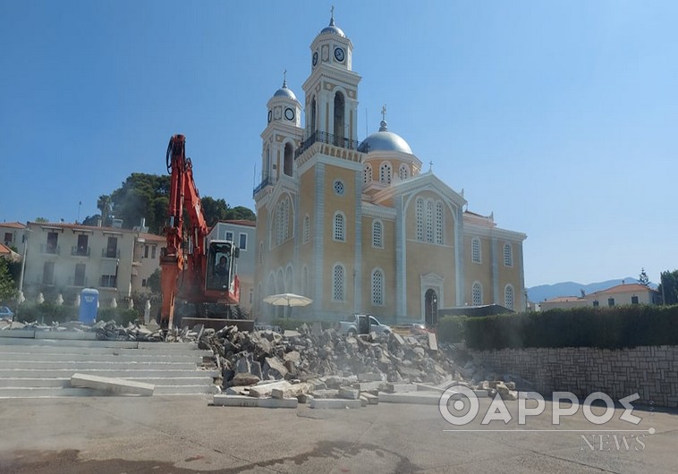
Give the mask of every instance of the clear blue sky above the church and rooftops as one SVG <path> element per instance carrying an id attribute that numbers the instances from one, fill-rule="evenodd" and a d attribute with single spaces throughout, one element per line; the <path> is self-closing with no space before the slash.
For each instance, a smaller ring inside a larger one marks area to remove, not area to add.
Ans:
<path id="1" fill-rule="evenodd" d="M 527 286 L 678 267 L 678 2 L 334 4 L 360 139 L 386 104 L 424 171 L 528 234 Z M 303 100 L 330 5 L 4 0 L 0 221 L 97 214 L 174 133 L 201 195 L 253 209 L 267 100 L 285 69 Z"/>

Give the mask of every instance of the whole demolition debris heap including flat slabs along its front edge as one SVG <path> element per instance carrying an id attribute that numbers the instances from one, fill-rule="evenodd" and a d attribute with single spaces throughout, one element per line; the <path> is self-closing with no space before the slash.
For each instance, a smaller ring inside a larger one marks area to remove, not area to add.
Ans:
<path id="1" fill-rule="evenodd" d="M 228 396 L 357 408 L 377 404 L 382 394 L 385 402 L 434 404 L 454 384 L 470 387 L 479 397 L 499 393 L 509 399 L 515 394 L 519 379 L 476 366 L 464 352 L 432 335 L 344 336 L 318 325 L 281 334 L 227 326 L 206 332 L 199 343 L 215 352 Z M 228 403 L 243 406 L 237 400 Z"/>

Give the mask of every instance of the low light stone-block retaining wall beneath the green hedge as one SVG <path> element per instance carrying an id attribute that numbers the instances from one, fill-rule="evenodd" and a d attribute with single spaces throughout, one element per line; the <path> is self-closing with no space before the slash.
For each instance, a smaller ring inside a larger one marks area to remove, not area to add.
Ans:
<path id="1" fill-rule="evenodd" d="M 581 399 L 604 392 L 615 401 L 638 392 L 636 403 L 678 407 L 678 346 L 591 347 L 470 351 L 475 363 L 515 374 L 543 395 L 572 392 Z M 518 387 L 521 388 L 520 386 Z"/>

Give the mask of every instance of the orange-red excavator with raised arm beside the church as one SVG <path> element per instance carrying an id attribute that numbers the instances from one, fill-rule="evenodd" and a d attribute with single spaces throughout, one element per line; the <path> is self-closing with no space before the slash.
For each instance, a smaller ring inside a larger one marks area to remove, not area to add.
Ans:
<path id="1" fill-rule="evenodd" d="M 221 328 L 233 324 L 248 330 L 253 321 L 233 319 L 231 310 L 240 301 L 236 274 L 240 249 L 233 241 L 209 238 L 193 165 L 186 157 L 186 137 L 170 139 L 165 161 L 171 179 L 166 247 L 160 252 L 160 325 L 172 328 L 201 323 Z"/>

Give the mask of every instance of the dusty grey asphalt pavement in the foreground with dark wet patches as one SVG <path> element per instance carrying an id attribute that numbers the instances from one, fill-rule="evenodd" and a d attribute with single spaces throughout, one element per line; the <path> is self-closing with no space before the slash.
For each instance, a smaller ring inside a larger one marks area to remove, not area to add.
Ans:
<path id="1" fill-rule="evenodd" d="M 580 409 L 554 425 L 546 402 L 521 425 L 518 402 L 504 412 L 484 399 L 469 424 L 455 426 L 433 405 L 260 409 L 211 400 L 0 400 L 0 472 L 678 472 L 677 411 L 635 410 L 636 425 L 617 409 L 597 425 Z M 483 424 L 487 412 L 510 419 Z"/>

